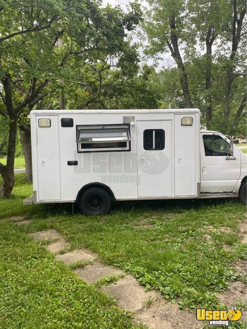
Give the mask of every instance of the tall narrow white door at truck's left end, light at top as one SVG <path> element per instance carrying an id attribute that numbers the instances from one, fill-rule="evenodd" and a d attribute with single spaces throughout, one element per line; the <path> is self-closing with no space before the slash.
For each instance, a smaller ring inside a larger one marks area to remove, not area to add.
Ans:
<path id="1" fill-rule="evenodd" d="M 39 121 L 43 119 L 43 121 Z M 44 121 L 49 119 L 50 121 Z M 40 123 L 41 122 L 41 123 Z M 50 127 L 43 125 L 50 122 Z M 41 126 L 41 127 L 39 127 Z M 38 200 L 60 200 L 58 116 L 36 116 Z"/>

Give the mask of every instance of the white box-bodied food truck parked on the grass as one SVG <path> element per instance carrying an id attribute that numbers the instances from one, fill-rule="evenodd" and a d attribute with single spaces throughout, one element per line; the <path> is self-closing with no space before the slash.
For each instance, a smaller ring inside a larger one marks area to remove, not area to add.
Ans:
<path id="1" fill-rule="evenodd" d="M 33 196 L 105 214 L 112 200 L 238 197 L 247 156 L 198 109 L 34 110 Z"/>

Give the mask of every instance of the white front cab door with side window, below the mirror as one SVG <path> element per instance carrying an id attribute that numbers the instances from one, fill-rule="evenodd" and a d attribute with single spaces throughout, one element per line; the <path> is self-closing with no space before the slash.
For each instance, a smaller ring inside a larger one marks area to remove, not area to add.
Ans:
<path id="1" fill-rule="evenodd" d="M 240 153 L 227 159 L 229 143 L 224 136 L 203 133 L 200 136 L 201 187 L 206 193 L 232 192 L 241 170 Z"/>

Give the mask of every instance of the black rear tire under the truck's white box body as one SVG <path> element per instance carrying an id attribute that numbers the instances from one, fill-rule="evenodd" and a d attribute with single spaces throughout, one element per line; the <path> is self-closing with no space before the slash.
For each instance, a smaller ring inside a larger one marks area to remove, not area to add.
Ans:
<path id="1" fill-rule="evenodd" d="M 104 215 L 111 208 L 109 193 L 100 187 L 89 187 L 79 198 L 80 211 L 86 216 Z"/>

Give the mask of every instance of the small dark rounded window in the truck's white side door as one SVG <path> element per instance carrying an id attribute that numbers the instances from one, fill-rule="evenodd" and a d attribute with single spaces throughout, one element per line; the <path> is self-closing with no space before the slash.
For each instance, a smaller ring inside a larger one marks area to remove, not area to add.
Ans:
<path id="1" fill-rule="evenodd" d="M 163 150 L 164 131 L 163 129 L 146 129 L 143 132 L 144 150 Z"/>

